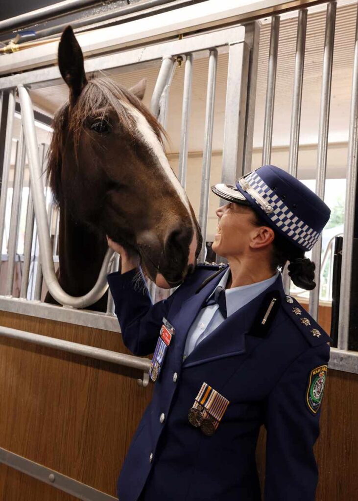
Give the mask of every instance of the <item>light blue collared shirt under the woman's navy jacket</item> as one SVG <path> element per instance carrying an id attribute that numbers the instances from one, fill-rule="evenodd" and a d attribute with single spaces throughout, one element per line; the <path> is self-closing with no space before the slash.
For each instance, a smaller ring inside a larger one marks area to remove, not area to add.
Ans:
<path id="1" fill-rule="evenodd" d="M 262 280 L 261 282 L 255 282 L 254 284 L 242 285 L 239 287 L 233 287 L 232 289 L 226 289 L 225 299 L 226 299 L 226 311 L 229 317 L 233 313 L 237 312 L 249 303 L 251 300 L 259 296 L 265 289 L 270 287 L 277 279 L 279 271 L 275 273 L 271 278 Z M 230 276 L 230 268 L 224 273 L 221 281 L 214 289 L 210 297 L 215 293 L 216 289 L 221 286 L 225 289 Z M 206 308 L 202 308 L 198 313 L 196 319 L 194 320 L 187 336 L 187 341 L 184 349 L 185 360 L 190 353 L 194 350 L 199 343 L 203 341 L 209 334 L 211 334 L 219 325 L 224 322 L 224 317 L 220 313 L 219 305 L 211 305 Z"/>

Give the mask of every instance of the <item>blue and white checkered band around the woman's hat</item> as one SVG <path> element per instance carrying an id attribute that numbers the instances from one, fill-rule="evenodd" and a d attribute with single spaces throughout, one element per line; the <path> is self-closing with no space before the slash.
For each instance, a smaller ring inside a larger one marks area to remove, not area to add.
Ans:
<path id="1" fill-rule="evenodd" d="M 240 178 L 239 183 L 244 190 L 245 183 L 248 183 L 250 188 L 245 191 L 248 191 L 250 195 L 250 191 L 254 192 L 252 198 L 254 198 L 255 202 L 265 211 L 265 214 L 272 222 L 279 227 L 281 231 L 286 233 L 289 238 L 305 247 L 307 250 L 310 250 L 314 246 L 320 233 L 309 227 L 308 224 L 299 217 L 295 216 L 281 198 L 279 198 L 265 181 L 261 179 L 256 171 L 250 172 L 250 174 Z M 262 206 L 260 201 L 255 197 L 255 194 L 258 195 L 257 198 L 263 199 L 270 210 Z"/>

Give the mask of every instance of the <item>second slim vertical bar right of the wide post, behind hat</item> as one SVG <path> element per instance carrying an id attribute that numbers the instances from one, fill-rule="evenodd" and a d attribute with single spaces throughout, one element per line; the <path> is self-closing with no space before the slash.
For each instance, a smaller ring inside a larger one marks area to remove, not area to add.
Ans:
<path id="1" fill-rule="evenodd" d="M 298 22 L 297 22 L 296 59 L 295 59 L 295 72 L 293 80 L 293 95 L 292 95 L 292 109 L 291 109 L 290 151 L 288 158 L 288 172 L 295 177 L 297 177 L 304 52 L 306 46 L 306 28 L 307 28 L 307 9 L 301 9 L 298 13 Z M 287 266 L 288 264 L 286 264 L 283 272 L 283 287 L 285 289 L 285 293 L 289 295 L 291 278 L 288 275 Z"/>

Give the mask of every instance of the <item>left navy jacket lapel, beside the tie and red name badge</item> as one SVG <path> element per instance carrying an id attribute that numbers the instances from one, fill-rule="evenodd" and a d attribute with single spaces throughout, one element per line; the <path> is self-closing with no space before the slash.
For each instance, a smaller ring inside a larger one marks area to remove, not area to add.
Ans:
<path id="1" fill-rule="evenodd" d="M 188 331 L 196 319 L 199 310 L 203 306 L 204 301 L 219 284 L 226 270 L 227 267 L 223 269 L 222 273 L 217 274 L 212 280 L 207 282 L 204 287 L 201 287 L 198 293 L 191 294 L 190 297 L 182 303 L 180 310 L 178 310 L 176 315 L 172 318 L 171 323 L 177 332 L 174 343 L 174 358 L 176 363 L 182 363 Z"/>

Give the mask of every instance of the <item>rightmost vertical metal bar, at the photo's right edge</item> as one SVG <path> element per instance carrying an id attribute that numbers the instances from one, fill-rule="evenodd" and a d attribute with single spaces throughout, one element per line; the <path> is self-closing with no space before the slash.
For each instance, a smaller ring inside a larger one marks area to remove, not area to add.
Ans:
<path id="1" fill-rule="evenodd" d="M 347 174 L 345 187 L 342 270 L 340 278 L 338 344 L 340 350 L 348 349 L 350 291 L 352 280 L 354 207 L 357 186 L 358 159 L 358 10 L 356 14 L 352 92 L 350 100 Z"/>

